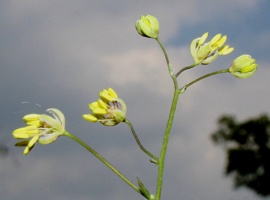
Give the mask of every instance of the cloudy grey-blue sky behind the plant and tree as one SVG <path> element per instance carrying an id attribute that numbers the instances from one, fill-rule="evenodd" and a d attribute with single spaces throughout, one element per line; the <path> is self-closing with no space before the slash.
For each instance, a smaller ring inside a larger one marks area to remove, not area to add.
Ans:
<path id="1" fill-rule="evenodd" d="M 179 85 L 228 69 L 249 54 L 258 69 L 248 79 L 229 73 L 206 78 L 179 97 L 168 144 L 161 199 L 260 200 L 225 176 L 226 152 L 211 141 L 217 119 L 269 114 L 268 0 L 0 2 L 0 193 L 1 199 L 145 199 L 69 137 L 37 143 L 23 156 L 13 130 L 22 117 L 64 113 L 66 130 L 137 185 L 155 193 L 158 166 L 149 162 L 125 123 L 107 127 L 82 119 L 98 93 L 113 88 L 127 105 L 127 119 L 142 143 L 159 155 L 173 98 L 173 81 L 160 46 L 140 36 L 141 15 L 155 16 L 159 38 L 178 72 L 193 64 L 190 43 L 209 32 L 227 35 L 235 50 L 209 65 L 183 72 Z M 27 102 L 27 103 L 26 103 Z M 47 113 L 48 114 L 48 113 Z M 267 198 L 265 198 L 267 199 Z"/>

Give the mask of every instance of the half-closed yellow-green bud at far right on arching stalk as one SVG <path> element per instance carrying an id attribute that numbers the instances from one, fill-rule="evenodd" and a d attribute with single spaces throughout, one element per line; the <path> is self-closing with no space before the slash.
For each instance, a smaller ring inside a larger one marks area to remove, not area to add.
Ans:
<path id="1" fill-rule="evenodd" d="M 257 69 L 258 65 L 254 63 L 255 61 L 250 55 L 241 55 L 232 62 L 229 72 L 237 78 L 248 78 Z"/>

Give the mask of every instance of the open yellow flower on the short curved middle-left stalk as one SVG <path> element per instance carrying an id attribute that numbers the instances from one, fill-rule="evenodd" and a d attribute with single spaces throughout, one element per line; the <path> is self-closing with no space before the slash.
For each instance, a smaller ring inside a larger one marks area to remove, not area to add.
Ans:
<path id="1" fill-rule="evenodd" d="M 101 122 L 105 126 L 114 126 L 126 118 L 126 104 L 119 99 L 112 88 L 99 93 L 101 99 L 89 104 L 94 114 L 82 115 L 89 122 Z M 111 102 L 111 104 L 110 104 Z"/>

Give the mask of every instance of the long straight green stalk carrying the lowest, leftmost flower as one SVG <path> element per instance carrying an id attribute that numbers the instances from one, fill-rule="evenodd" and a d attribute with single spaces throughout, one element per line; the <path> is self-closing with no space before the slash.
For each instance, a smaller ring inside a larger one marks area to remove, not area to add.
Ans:
<path id="1" fill-rule="evenodd" d="M 88 151 L 90 151 L 92 154 L 94 154 L 99 160 L 101 160 L 101 162 L 103 162 L 105 165 L 107 165 L 111 170 L 113 170 L 113 172 L 115 172 L 120 178 L 122 178 L 124 181 L 126 181 L 131 187 L 134 188 L 134 190 L 136 190 L 138 193 L 140 193 L 141 195 L 143 195 L 142 191 L 136 186 L 134 185 L 131 181 L 129 181 L 124 175 L 122 175 L 117 169 L 115 169 L 110 163 L 107 162 L 107 160 L 105 160 L 103 157 L 101 157 L 96 151 L 94 151 L 93 149 L 91 149 L 89 146 L 87 146 L 85 143 L 83 143 L 81 140 L 79 140 L 78 138 L 76 138 L 75 136 L 73 136 L 72 134 L 68 133 L 67 131 L 64 131 L 64 133 L 62 135 L 66 135 L 70 138 L 72 138 L 73 140 L 75 140 L 76 142 L 78 142 L 79 144 L 81 144 L 85 149 L 87 149 Z M 144 195 L 143 195 L 144 196 Z"/>

